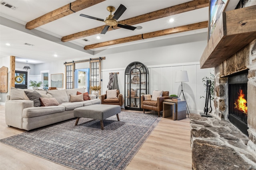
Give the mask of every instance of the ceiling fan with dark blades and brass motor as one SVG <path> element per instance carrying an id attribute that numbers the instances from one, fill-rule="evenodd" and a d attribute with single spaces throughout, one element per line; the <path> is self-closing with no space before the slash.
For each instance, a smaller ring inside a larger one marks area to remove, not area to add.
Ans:
<path id="1" fill-rule="evenodd" d="M 133 26 L 130 26 L 130 25 L 126 25 L 126 24 L 123 24 L 123 23 L 119 23 L 118 21 L 116 21 L 116 20 L 118 20 L 120 18 L 120 16 L 124 13 L 124 11 L 126 9 L 127 8 L 124 5 L 122 5 L 122 4 L 120 4 L 120 6 L 117 8 L 117 10 L 113 6 L 108 6 L 107 10 L 110 12 L 110 15 L 106 18 L 105 21 L 103 19 L 92 17 L 92 16 L 88 16 L 88 15 L 85 15 L 85 14 L 80 14 L 80 16 L 86 17 L 86 18 L 90 18 L 90 19 L 93 19 L 93 20 L 98 20 L 98 21 L 105 22 L 106 26 L 101 31 L 101 34 L 105 34 L 108 31 L 108 28 L 110 26 L 114 26 L 116 24 L 117 24 L 118 27 L 134 30 L 134 29 L 136 29 L 136 27 L 133 27 Z M 112 15 L 112 12 L 114 12 L 115 10 L 116 10 L 116 12 L 114 13 L 114 15 Z"/>

